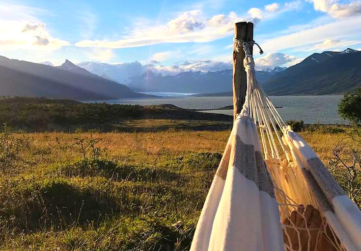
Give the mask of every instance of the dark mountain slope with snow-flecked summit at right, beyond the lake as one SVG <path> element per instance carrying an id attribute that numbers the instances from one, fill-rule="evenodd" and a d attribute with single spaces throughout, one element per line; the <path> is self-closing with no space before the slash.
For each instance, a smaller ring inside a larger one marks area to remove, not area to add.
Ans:
<path id="1" fill-rule="evenodd" d="M 313 53 L 301 63 L 269 78 L 268 95 L 342 94 L 361 87 L 361 51 Z"/>

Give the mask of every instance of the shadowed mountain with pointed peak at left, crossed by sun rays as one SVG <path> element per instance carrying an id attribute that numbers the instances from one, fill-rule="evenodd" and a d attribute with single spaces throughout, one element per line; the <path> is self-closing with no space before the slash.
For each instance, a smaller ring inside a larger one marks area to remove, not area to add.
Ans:
<path id="1" fill-rule="evenodd" d="M 30 96 L 73 100 L 147 97 L 104 79 L 70 61 L 58 67 L 0 56 L 0 96 Z"/>

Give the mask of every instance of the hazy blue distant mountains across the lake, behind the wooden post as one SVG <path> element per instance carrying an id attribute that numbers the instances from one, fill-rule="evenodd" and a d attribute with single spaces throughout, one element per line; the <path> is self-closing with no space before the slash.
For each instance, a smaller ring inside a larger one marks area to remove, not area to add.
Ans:
<path id="1" fill-rule="evenodd" d="M 232 91 L 232 70 L 217 72 L 183 72 L 175 76 L 163 76 L 151 71 L 133 78 L 128 86 L 134 91 L 148 92 L 188 92 L 220 93 Z M 257 79 L 262 84 L 274 73 L 256 71 Z"/>

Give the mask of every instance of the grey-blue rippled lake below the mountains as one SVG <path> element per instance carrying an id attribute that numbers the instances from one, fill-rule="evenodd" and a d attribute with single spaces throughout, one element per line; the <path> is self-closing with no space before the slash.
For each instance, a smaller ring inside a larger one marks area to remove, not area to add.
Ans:
<path id="1" fill-rule="evenodd" d="M 159 93 L 152 93 L 159 95 Z M 337 104 L 342 96 L 274 96 L 270 97 L 284 121 L 303 120 L 306 124 L 347 124 L 337 113 Z M 98 101 L 100 102 L 100 101 Z M 167 97 L 153 99 L 107 100 L 119 104 L 173 104 L 185 109 L 217 109 L 232 105 L 232 97 L 189 97 L 189 94 L 167 93 Z M 233 115 L 233 110 L 208 110 Z"/>

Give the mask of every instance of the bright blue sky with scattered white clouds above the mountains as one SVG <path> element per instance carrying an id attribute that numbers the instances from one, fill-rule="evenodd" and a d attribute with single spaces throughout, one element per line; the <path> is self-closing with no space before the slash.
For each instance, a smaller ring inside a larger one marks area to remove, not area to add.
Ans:
<path id="1" fill-rule="evenodd" d="M 231 69 L 234 23 L 254 23 L 257 69 L 361 50 L 361 0 L 0 0 L 0 55 L 134 61 L 163 74 Z"/>

